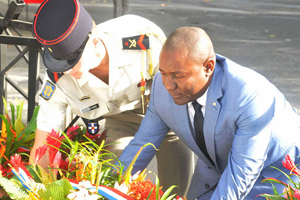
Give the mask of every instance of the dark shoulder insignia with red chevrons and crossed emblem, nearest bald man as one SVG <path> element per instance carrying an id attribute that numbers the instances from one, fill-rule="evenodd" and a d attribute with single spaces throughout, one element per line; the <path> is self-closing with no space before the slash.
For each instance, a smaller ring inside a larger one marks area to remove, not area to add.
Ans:
<path id="1" fill-rule="evenodd" d="M 149 37 L 145 34 L 123 37 L 122 38 L 123 49 L 137 49 L 145 50 L 149 49 Z"/>

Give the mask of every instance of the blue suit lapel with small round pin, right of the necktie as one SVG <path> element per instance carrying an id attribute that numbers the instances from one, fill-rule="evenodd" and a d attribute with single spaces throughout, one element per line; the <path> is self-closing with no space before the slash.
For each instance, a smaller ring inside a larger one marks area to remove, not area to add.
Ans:
<path id="1" fill-rule="evenodd" d="M 221 81 L 222 81 L 223 71 L 219 64 L 216 62 L 213 77 L 207 92 L 205 116 L 203 124 L 203 133 L 205 138 L 205 144 L 207 152 L 210 155 L 212 161 L 217 167 L 215 148 L 214 148 L 214 131 L 216 127 L 216 122 L 218 119 L 220 104 L 217 101 L 219 97 L 222 96 Z"/>

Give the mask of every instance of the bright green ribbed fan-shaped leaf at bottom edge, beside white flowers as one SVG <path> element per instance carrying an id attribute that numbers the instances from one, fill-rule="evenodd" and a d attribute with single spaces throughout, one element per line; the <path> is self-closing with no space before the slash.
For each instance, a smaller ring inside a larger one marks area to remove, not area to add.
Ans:
<path id="1" fill-rule="evenodd" d="M 43 200 L 64 200 L 66 195 L 70 193 L 70 189 L 73 189 L 70 182 L 67 179 L 60 179 L 45 185 L 46 190 L 38 190 L 38 195 Z"/>

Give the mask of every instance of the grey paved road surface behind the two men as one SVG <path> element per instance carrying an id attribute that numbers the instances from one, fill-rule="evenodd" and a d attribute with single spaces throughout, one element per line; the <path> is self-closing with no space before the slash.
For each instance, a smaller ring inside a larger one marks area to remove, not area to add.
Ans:
<path id="1" fill-rule="evenodd" d="M 112 0 L 79 1 L 96 23 L 112 18 Z M 28 5 L 29 21 L 36 8 L 35 4 Z M 7 1 L 0 0 L 0 11 L 6 9 Z M 26 19 L 25 13 L 21 19 Z M 217 53 L 263 74 L 300 112 L 299 0 L 131 0 L 130 13 L 152 20 L 166 35 L 180 26 L 203 28 Z M 16 53 L 11 47 L 8 52 L 11 60 Z M 8 72 L 24 90 L 26 70 L 19 63 Z M 41 65 L 41 74 L 43 71 Z M 8 88 L 8 98 L 17 96 Z M 151 164 L 154 170 L 155 162 Z"/>

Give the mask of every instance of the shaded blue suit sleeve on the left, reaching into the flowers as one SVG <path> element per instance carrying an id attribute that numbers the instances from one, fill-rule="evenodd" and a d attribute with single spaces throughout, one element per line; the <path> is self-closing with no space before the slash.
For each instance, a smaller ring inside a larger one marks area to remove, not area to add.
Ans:
<path id="1" fill-rule="evenodd" d="M 169 127 L 161 120 L 155 111 L 155 102 L 158 100 L 155 99 L 155 94 L 157 94 L 155 92 L 156 77 L 157 74 L 152 83 L 150 101 L 145 117 L 142 119 L 134 138 L 124 148 L 119 157 L 119 160 L 124 162 L 124 169 L 127 168 L 134 155 L 142 145 L 150 142 L 154 144 L 156 148 L 159 148 L 162 140 L 169 131 Z M 156 150 L 152 146 L 146 146 L 135 161 L 132 173 L 135 173 L 138 170 L 143 170 L 151 161 L 155 153 Z"/>

